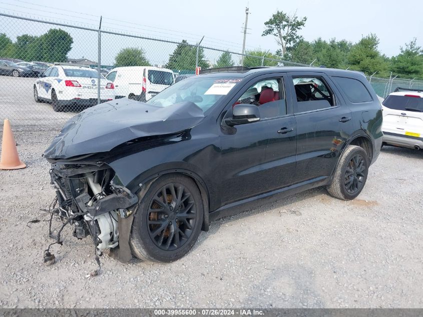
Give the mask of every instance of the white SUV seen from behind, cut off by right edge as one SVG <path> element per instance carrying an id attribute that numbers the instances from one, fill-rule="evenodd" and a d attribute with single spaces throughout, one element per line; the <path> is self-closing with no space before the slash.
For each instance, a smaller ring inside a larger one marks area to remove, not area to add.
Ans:
<path id="1" fill-rule="evenodd" d="M 383 144 L 423 149 L 423 93 L 396 88 L 382 102 Z"/>

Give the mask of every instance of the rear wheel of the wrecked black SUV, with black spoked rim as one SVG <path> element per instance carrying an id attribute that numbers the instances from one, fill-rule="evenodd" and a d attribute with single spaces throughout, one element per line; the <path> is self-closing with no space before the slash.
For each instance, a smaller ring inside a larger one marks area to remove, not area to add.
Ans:
<path id="1" fill-rule="evenodd" d="M 338 199 L 354 199 L 364 187 L 368 167 L 366 151 L 359 146 L 348 145 L 339 160 L 332 183 L 327 187 L 327 191 Z"/>

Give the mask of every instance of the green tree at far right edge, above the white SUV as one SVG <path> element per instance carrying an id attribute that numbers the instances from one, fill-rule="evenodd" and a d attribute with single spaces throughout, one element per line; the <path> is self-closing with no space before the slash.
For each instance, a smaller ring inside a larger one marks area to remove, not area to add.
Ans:
<path id="1" fill-rule="evenodd" d="M 392 57 L 391 71 L 395 74 L 423 78 L 423 51 L 417 46 L 417 39 L 400 47 L 400 54 Z"/>

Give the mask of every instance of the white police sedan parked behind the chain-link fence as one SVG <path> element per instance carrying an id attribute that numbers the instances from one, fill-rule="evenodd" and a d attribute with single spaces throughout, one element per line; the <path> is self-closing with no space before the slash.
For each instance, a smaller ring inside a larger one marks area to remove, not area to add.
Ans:
<path id="1" fill-rule="evenodd" d="M 55 65 L 50 67 L 34 83 L 34 99 L 36 102 L 52 103 L 54 111 L 65 109 L 75 111 L 81 106 L 97 105 L 98 85 L 100 84 L 101 102 L 115 99 L 113 83 L 95 69 L 71 65 Z"/>

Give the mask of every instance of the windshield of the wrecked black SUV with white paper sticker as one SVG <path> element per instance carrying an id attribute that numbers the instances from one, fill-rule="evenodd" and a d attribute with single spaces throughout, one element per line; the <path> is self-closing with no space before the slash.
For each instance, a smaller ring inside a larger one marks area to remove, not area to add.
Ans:
<path id="1" fill-rule="evenodd" d="M 206 112 L 240 81 L 242 81 L 241 78 L 187 78 L 165 89 L 147 103 L 159 107 L 168 107 L 179 102 L 193 102 L 203 112 Z"/>

